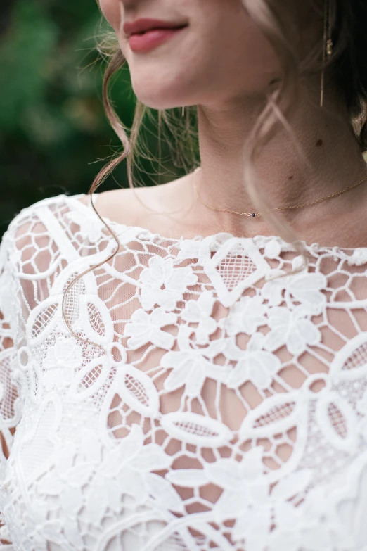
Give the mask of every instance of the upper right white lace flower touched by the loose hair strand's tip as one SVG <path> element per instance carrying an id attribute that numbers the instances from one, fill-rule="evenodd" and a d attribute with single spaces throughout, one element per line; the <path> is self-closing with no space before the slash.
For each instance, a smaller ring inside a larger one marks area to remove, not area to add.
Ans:
<path id="1" fill-rule="evenodd" d="M 283 274 L 278 270 L 278 274 Z M 279 306 L 283 301 L 292 308 L 291 297 L 307 306 L 309 314 L 316 314 L 326 305 L 326 295 L 322 293 L 328 286 L 326 276 L 320 273 L 308 273 L 305 270 L 299 274 L 267 281 L 262 288 L 262 296 L 269 300 L 269 305 Z"/>

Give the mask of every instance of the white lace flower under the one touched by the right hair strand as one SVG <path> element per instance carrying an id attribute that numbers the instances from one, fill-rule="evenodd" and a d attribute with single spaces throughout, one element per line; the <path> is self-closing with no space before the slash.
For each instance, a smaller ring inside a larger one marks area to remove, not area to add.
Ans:
<path id="1" fill-rule="evenodd" d="M 321 342 L 320 330 L 304 315 L 305 309 L 298 307 L 293 312 L 284 307 L 271 308 L 268 324 L 271 329 L 266 334 L 264 348 L 278 350 L 285 345 L 292 355 L 299 355 Z"/>

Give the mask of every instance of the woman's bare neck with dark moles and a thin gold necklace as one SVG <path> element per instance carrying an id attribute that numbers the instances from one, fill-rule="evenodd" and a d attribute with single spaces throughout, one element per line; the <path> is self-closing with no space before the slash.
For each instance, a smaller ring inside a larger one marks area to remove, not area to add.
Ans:
<path id="1" fill-rule="evenodd" d="M 259 185 L 271 208 L 316 201 L 356 184 L 367 175 L 366 163 L 348 126 L 347 114 L 341 118 L 340 105 L 329 96 L 330 93 L 325 99 L 327 111 L 312 106 L 304 92 L 297 108 L 287 117 L 313 167 L 311 173 L 297 153 L 295 139 L 280 124 L 279 131 L 273 134 L 257 159 Z M 198 110 L 201 170 L 195 177 L 200 197 L 213 207 L 244 212 L 255 210 L 243 182 L 243 144 L 256 120 L 254 113 L 259 110 L 260 106 L 255 103 L 244 101 L 221 109 Z M 335 118 L 333 112 L 339 117 Z M 317 228 L 321 231 L 328 220 L 332 224 L 339 217 L 349 220 L 352 213 L 361 210 L 364 198 L 367 200 L 367 181 L 318 205 L 283 210 L 279 214 L 285 215 L 285 220 L 296 232 L 303 233 L 310 225 L 317 232 Z M 266 235 L 272 231 L 263 217 L 213 212 L 200 204 L 195 205 L 191 215 L 194 213 L 200 220 L 215 221 L 231 233 Z"/>

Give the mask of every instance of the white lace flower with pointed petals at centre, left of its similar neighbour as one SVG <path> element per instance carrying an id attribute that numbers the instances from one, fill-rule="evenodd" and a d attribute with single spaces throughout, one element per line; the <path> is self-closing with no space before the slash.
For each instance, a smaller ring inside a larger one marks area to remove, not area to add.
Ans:
<path id="1" fill-rule="evenodd" d="M 167 352 L 160 360 L 160 365 L 172 369 L 164 383 L 167 391 L 175 391 L 185 386 L 186 395 L 199 396 L 202 386 L 211 372 L 212 363 L 203 357 L 201 348 L 191 347 L 189 336 L 193 329 L 181 326 L 177 335 L 179 351 Z"/>

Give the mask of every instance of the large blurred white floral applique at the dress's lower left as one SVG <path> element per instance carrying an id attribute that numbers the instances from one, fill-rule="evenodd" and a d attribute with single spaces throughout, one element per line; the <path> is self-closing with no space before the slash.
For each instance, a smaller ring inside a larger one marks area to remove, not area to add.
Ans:
<path id="1" fill-rule="evenodd" d="M 143 431 L 134 424 L 128 436 L 106 450 L 96 434 L 85 429 L 77 460 L 75 449 L 61 452 L 56 467 L 39 481 L 37 490 L 40 494 L 58 495 L 69 533 L 80 534 L 78 518 L 98 525 L 107 509 L 120 514 L 124 494 L 137 504 L 146 502 L 151 471 L 169 468 L 172 458 L 160 445 L 144 445 L 143 440 Z M 79 543 L 79 538 L 72 543 Z"/>

